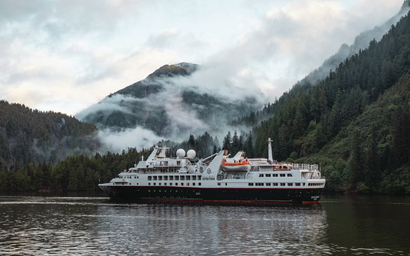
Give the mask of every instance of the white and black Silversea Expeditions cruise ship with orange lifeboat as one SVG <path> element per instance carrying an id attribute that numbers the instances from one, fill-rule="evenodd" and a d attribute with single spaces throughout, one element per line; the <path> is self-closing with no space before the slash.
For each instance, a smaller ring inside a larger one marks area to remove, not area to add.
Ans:
<path id="1" fill-rule="evenodd" d="M 280 204 L 319 203 L 325 178 L 317 164 L 281 163 L 273 160 L 272 140 L 267 158 L 246 158 L 226 150 L 204 159 L 195 151 L 179 149 L 167 157 L 168 147 L 156 145 L 148 157 L 98 184 L 110 198 L 138 201 L 198 203 Z"/>

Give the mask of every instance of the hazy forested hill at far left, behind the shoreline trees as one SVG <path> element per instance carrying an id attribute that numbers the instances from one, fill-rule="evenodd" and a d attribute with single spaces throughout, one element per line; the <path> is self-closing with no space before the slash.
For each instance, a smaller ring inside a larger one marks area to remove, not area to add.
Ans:
<path id="1" fill-rule="evenodd" d="M 91 152 L 98 146 L 95 131 L 94 125 L 65 114 L 0 100 L 0 167 L 56 163 L 71 154 Z"/>

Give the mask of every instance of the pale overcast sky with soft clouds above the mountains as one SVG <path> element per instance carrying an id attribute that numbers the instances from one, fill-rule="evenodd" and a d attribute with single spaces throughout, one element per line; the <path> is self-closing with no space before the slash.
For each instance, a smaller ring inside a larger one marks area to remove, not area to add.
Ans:
<path id="1" fill-rule="evenodd" d="M 0 0 L 0 99 L 76 114 L 183 61 L 273 99 L 402 3 Z"/>

